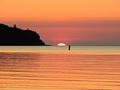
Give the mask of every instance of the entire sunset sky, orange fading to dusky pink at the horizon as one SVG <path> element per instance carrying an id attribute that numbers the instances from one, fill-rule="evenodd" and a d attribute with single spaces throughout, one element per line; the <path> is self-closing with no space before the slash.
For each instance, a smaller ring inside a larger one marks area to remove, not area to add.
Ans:
<path id="1" fill-rule="evenodd" d="M 0 22 L 52 45 L 120 44 L 120 0 L 0 0 Z"/>

